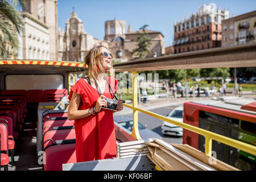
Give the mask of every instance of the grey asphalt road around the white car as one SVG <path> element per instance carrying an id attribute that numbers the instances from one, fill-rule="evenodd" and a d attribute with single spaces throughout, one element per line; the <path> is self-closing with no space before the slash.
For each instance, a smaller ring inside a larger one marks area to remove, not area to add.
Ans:
<path id="1" fill-rule="evenodd" d="M 166 116 L 177 106 L 182 106 L 182 105 L 161 107 L 161 108 L 152 109 L 152 110 L 149 110 L 149 111 L 151 111 L 153 113 L 156 113 L 156 114 Z M 126 115 L 123 115 L 123 116 L 133 118 L 133 114 L 126 114 Z M 148 130 L 155 131 L 156 133 L 161 135 L 165 142 L 182 144 L 182 137 L 176 137 L 176 136 L 171 136 L 171 135 L 163 135 L 161 133 L 162 121 L 160 119 L 156 119 L 154 117 L 151 117 L 147 114 L 140 113 L 140 112 L 139 112 L 139 117 L 138 118 L 139 118 L 139 122 L 141 122 L 142 125 L 144 125 L 144 126 L 147 125 Z"/>

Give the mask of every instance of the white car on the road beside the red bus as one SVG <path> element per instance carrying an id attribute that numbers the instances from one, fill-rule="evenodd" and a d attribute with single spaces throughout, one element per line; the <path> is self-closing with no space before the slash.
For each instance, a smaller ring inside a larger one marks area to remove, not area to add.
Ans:
<path id="1" fill-rule="evenodd" d="M 167 115 L 168 118 L 173 119 L 178 122 L 183 122 L 183 106 L 176 107 L 174 110 L 171 111 L 170 114 Z M 176 135 L 182 136 L 183 135 L 183 128 L 163 121 L 161 126 L 162 134 L 167 135 Z"/>

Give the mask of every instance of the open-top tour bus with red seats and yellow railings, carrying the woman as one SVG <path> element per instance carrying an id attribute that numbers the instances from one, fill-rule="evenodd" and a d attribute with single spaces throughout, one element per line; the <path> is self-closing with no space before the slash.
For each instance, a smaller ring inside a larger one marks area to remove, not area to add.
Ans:
<path id="1" fill-rule="evenodd" d="M 116 72 L 131 72 L 133 131 L 115 123 L 117 156 L 76 162 L 74 121 L 67 118 L 69 89 L 84 63 L 42 60 L 0 60 L 1 169 L 10 170 L 238 170 L 212 157 L 212 140 L 256 155 L 253 144 L 180 123 L 138 107 L 139 71 L 216 67 L 255 67 L 256 44 L 214 48 L 114 64 Z M 204 151 L 189 143 L 142 140 L 138 112 L 183 127 L 205 138 Z M 188 111 L 187 111 L 188 112 Z M 254 113 L 255 114 L 255 113 Z M 89 148 L 86 150 L 90 150 Z"/>

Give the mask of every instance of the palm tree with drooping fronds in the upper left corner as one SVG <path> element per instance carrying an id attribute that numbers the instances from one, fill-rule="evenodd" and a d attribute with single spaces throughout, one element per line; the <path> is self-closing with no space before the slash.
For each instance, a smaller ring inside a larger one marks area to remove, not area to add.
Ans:
<path id="1" fill-rule="evenodd" d="M 0 57 L 7 59 L 9 50 L 12 55 L 18 52 L 17 33 L 22 32 L 22 18 L 19 7 L 26 6 L 26 0 L 0 0 Z"/>

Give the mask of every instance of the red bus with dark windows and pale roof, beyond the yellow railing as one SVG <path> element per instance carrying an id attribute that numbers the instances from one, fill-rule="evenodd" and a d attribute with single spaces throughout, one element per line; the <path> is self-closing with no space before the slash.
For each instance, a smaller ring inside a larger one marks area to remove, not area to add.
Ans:
<path id="1" fill-rule="evenodd" d="M 256 100 L 222 97 L 184 103 L 183 122 L 225 137 L 256 145 Z M 205 138 L 183 130 L 183 143 L 205 152 Z M 256 156 L 213 140 L 212 153 L 242 170 L 255 170 Z"/>

